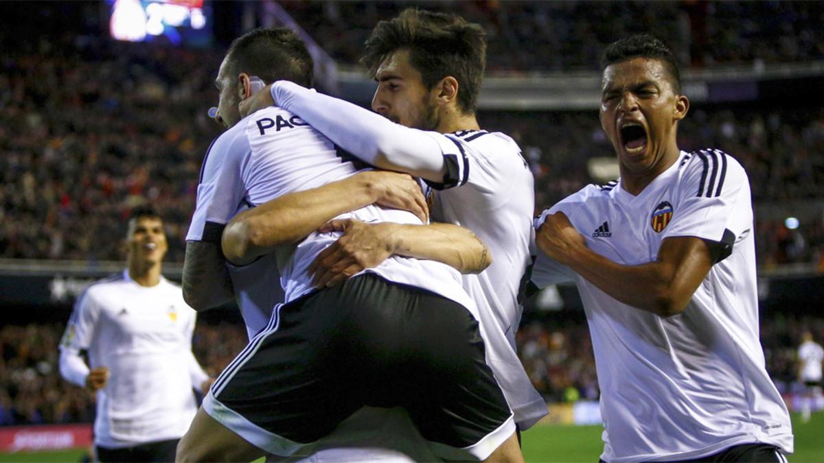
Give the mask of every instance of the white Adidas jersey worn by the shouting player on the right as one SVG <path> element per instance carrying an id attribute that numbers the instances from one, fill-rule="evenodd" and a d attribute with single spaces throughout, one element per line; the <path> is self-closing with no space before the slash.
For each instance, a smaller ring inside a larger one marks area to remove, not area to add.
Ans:
<path id="1" fill-rule="evenodd" d="M 576 276 L 602 391 L 602 460 L 689 460 L 747 442 L 792 452 L 789 414 L 759 341 L 755 233 L 742 166 L 717 150 L 681 152 L 638 196 L 620 180 L 589 185 L 536 226 L 559 211 L 590 249 L 618 264 L 656 260 L 662 240 L 673 236 L 723 249 L 686 309 L 667 318 Z M 552 265 L 539 257 L 533 283 L 552 283 Z"/>

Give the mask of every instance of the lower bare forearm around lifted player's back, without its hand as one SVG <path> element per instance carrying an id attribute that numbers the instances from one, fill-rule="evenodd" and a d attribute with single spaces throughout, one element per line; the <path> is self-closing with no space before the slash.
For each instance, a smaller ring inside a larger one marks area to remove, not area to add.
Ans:
<path id="1" fill-rule="evenodd" d="M 489 247 L 467 228 L 452 223 L 391 227 L 396 255 L 435 260 L 461 274 L 480 274 L 492 264 Z"/>

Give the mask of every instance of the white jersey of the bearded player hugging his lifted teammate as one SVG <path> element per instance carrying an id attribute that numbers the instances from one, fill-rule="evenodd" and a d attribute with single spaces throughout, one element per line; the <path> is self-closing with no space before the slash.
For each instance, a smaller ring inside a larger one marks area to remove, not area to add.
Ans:
<path id="1" fill-rule="evenodd" d="M 478 306 L 487 364 L 519 428 L 527 429 L 547 414 L 515 345 L 522 312 L 518 290 L 530 263 L 534 233 L 534 180 L 521 149 L 503 133 L 429 134 L 441 146 L 448 166 L 443 184 L 430 182 L 431 217 L 469 228 L 491 251 L 489 268 L 462 275 L 463 286 Z"/>

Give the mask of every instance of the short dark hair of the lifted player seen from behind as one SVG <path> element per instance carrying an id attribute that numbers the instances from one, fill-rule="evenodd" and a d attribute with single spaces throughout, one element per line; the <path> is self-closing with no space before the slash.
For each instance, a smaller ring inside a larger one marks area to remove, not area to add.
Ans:
<path id="1" fill-rule="evenodd" d="M 226 53 L 228 73 L 246 72 L 266 83 L 292 81 L 311 87 L 314 66 L 303 40 L 285 27 L 251 30 L 232 41 Z"/>

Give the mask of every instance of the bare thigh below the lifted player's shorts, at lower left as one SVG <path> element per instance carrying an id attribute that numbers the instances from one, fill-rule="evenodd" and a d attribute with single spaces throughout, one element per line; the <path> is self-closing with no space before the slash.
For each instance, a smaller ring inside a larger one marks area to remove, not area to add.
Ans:
<path id="1" fill-rule="evenodd" d="M 253 461 L 264 455 L 264 451 L 198 409 L 189 431 L 177 445 L 175 461 Z"/>

